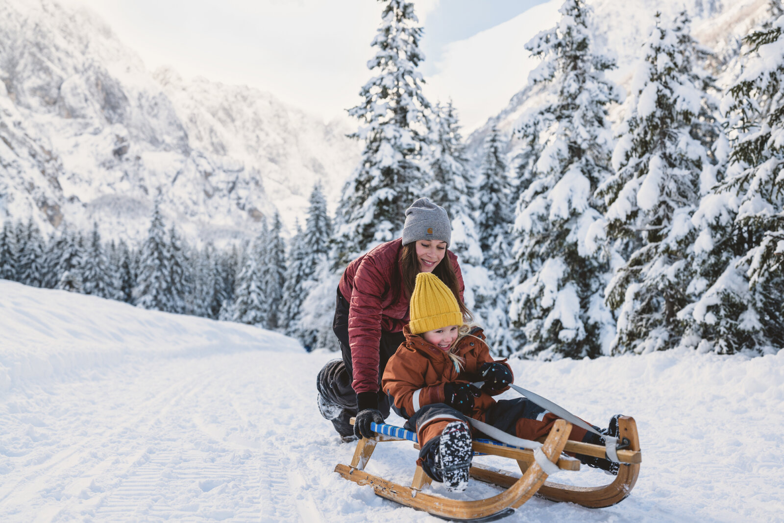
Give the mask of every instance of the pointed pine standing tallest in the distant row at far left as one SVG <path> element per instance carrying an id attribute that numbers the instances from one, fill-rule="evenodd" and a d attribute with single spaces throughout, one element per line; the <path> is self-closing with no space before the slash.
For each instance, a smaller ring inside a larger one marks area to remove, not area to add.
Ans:
<path id="1" fill-rule="evenodd" d="M 141 248 L 139 277 L 133 290 L 133 300 L 137 306 L 157 311 L 172 310 L 169 259 L 163 215 L 160 203 L 156 200 L 147 239 Z"/>

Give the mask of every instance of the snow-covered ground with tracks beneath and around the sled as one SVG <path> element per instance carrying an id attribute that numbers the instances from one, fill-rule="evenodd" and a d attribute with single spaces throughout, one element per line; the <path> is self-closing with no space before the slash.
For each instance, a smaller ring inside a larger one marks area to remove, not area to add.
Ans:
<path id="1" fill-rule="evenodd" d="M 332 357 L 250 326 L 0 280 L 0 521 L 441 521 L 333 472 L 354 445 L 316 408 Z M 512 366 L 596 424 L 633 415 L 643 466 L 615 507 L 533 499 L 504 521 L 782 521 L 784 351 Z M 415 458 L 387 443 L 368 471 L 407 482 Z M 490 493 L 471 482 L 462 496 Z"/>

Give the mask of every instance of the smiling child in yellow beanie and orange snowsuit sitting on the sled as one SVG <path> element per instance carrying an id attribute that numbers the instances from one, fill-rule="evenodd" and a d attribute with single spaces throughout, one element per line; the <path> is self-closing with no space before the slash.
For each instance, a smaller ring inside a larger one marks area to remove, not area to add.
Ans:
<path id="1" fill-rule="evenodd" d="M 454 294 L 437 276 L 416 276 L 409 314 L 405 342 L 384 370 L 383 391 L 395 412 L 407 420 L 405 427 L 416 431 L 421 445 L 417 463 L 423 471 L 448 490 L 460 491 L 468 483 L 472 432 L 486 437 L 470 427 L 467 417 L 525 439 L 546 436 L 558 418 L 528 399 L 492 398 L 509 388 L 512 370 L 506 359 L 492 359 L 481 328 L 463 325 Z M 484 381 L 481 389 L 471 384 L 477 381 Z M 569 439 L 604 445 L 580 427 L 572 427 Z M 576 457 L 618 473 L 617 463 Z"/>

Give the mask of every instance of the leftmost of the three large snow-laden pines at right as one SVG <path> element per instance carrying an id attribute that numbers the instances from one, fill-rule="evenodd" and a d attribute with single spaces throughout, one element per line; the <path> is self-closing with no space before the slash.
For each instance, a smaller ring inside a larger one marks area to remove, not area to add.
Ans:
<path id="1" fill-rule="evenodd" d="M 615 61 L 594 43 L 592 9 L 566 0 L 560 13 L 525 46 L 543 59 L 529 81 L 551 96 L 519 123 L 522 135 L 539 127 L 542 152 L 517 203 L 510 317 L 526 337 L 521 355 L 595 358 L 608 354 L 615 319 L 604 305 L 610 259 L 588 233 L 604 211 L 593 192 L 611 175 L 608 106 L 619 92 L 604 76 Z"/>

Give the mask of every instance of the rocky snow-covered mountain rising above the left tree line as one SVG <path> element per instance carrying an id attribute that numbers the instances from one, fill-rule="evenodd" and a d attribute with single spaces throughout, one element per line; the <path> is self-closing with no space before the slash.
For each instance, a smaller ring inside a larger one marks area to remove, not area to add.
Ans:
<path id="1" fill-rule="evenodd" d="M 252 233 L 277 208 L 330 201 L 358 159 L 342 121 L 244 86 L 154 74 L 98 16 L 53 0 L 0 2 L 0 220 L 45 231 L 93 221 L 139 239 L 158 192 L 192 237 Z"/>

